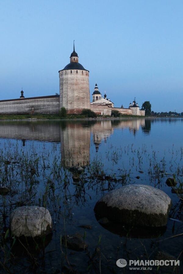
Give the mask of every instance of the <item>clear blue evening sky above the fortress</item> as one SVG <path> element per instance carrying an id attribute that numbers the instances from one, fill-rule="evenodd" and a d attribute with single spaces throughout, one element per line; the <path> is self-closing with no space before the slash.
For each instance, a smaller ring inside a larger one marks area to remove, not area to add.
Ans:
<path id="1" fill-rule="evenodd" d="M 183 1 L 1 0 L 0 100 L 59 93 L 75 50 L 92 94 L 183 111 Z"/>

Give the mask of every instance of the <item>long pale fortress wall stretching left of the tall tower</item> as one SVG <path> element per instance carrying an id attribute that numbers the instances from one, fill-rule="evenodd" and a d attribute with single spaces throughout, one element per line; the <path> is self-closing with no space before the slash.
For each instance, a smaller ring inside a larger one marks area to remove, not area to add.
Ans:
<path id="1" fill-rule="evenodd" d="M 54 96 L 0 101 L 0 114 L 55 114 L 59 109 L 59 97 Z"/>

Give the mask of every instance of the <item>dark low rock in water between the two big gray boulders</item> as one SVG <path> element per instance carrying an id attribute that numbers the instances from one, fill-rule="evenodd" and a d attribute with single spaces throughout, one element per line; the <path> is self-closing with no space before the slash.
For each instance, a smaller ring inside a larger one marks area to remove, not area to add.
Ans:
<path id="1" fill-rule="evenodd" d="M 81 234 L 66 235 L 62 238 L 62 243 L 66 245 L 67 248 L 75 251 L 83 251 L 88 248 L 88 244 L 83 241 L 83 236 Z"/>

